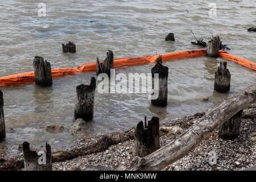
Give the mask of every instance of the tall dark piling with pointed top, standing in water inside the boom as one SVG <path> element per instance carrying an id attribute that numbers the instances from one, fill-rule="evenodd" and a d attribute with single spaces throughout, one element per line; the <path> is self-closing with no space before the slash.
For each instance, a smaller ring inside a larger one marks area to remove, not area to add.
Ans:
<path id="1" fill-rule="evenodd" d="M 162 63 L 163 57 L 160 55 L 156 59 L 155 66 L 151 69 L 152 73 L 152 89 L 154 92 L 159 91 L 159 96 L 155 100 L 151 100 L 151 104 L 155 106 L 166 106 L 168 97 L 168 67 Z M 155 90 L 154 86 L 154 74 L 158 73 L 159 77 L 159 89 Z M 156 93 L 153 93 L 156 94 Z"/>

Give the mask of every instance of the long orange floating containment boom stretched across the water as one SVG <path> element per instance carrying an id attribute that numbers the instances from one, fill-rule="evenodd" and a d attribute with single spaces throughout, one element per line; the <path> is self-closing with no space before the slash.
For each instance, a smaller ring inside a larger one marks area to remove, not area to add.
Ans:
<path id="1" fill-rule="evenodd" d="M 196 49 L 191 51 L 166 53 L 166 54 L 163 54 L 162 57 L 163 57 L 163 61 L 169 61 L 173 59 L 204 56 L 206 53 L 207 53 L 206 49 Z M 256 70 L 256 63 L 252 61 L 248 61 L 246 59 L 242 59 L 241 57 L 230 55 L 230 53 L 225 51 L 220 51 L 219 55 L 223 59 L 228 59 L 230 61 L 234 61 L 238 64 L 241 64 L 244 67 Z M 125 58 L 114 59 L 114 68 L 129 66 L 129 65 L 155 63 L 155 60 L 158 56 L 159 55 L 125 57 Z M 94 72 L 94 71 L 96 71 L 96 62 L 85 63 L 80 65 L 77 68 L 52 69 L 52 77 L 55 78 L 55 77 L 60 77 L 65 75 L 72 75 L 75 73 Z M 30 81 L 35 81 L 34 72 L 19 73 L 16 75 L 0 77 L 0 86 L 20 85 Z"/>

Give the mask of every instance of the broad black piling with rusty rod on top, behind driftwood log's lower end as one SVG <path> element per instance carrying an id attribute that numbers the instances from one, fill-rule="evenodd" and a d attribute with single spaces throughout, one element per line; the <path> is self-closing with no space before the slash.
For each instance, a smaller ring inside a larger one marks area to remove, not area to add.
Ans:
<path id="1" fill-rule="evenodd" d="M 159 142 L 159 118 L 152 117 L 148 125 L 143 126 L 139 122 L 134 132 L 135 155 L 143 158 L 160 148 Z"/>

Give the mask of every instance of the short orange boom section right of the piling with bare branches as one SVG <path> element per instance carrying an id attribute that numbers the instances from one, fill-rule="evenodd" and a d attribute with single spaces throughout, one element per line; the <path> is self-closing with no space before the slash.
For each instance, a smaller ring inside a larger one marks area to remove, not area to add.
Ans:
<path id="1" fill-rule="evenodd" d="M 227 59 L 229 61 L 234 61 L 234 62 L 242 65 L 243 67 L 247 67 L 247 68 L 250 68 L 250 69 L 253 69 L 254 71 L 256 71 L 256 63 L 254 63 L 253 61 L 249 61 L 249 60 L 243 59 L 242 57 L 231 55 L 230 53 L 225 52 L 225 51 L 219 51 L 218 55 L 220 55 L 220 57 L 223 59 Z"/>

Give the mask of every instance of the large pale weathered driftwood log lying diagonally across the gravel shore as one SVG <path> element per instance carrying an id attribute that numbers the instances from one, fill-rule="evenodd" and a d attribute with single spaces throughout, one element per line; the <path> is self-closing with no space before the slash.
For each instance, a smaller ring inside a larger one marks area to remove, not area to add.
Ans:
<path id="1" fill-rule="evenodd" d="M 161 170 L 187 155 L 203 139 L 208 139 L 215 129 L 236 113 L 256 101 L 256 84 L 228 98 L 197 120 L 179 138 L 147 155 L 135 157 L 128 170 Z"/>

